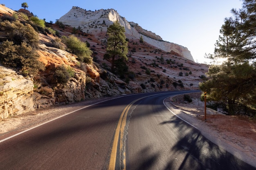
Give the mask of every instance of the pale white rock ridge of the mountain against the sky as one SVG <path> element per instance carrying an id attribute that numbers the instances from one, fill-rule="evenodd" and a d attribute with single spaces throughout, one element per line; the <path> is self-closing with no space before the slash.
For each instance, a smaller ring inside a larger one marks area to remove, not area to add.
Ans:
<path id="1" fill-rule="evenodd" d="M 100 9 L 95 11 L 86 11 L 80 7 L 72 7 L 65 15 L 63 15 L 59 22 L 70 25 L 75 28 L 81 28 L 85 33 L 91 33 L 97 36 L 97 32 L 106 32 L 109 25 L 118 21 L 126 29 L 126 36 L 128 38 L 139 39 L 141 36 L 148 44 L 155 46 L 166 52 L 174 52 L 175 54 L 194 61 L 191 52 L 188 48 L 164 41 L 159 35 L 146 31 L 139 24 L 128 22 L 125 17 L 121 17 L 114 9 Z M 102 37 L 98 37 L 102 39 Z"/>

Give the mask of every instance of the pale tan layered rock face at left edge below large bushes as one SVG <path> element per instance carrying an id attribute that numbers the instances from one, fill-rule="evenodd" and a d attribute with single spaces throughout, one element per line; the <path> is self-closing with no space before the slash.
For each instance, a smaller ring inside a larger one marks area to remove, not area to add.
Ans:
<path id="1" fill-rule="evenodd" d="M 0 118 L 33 111 L 33 81 L 0 66 Z"/>

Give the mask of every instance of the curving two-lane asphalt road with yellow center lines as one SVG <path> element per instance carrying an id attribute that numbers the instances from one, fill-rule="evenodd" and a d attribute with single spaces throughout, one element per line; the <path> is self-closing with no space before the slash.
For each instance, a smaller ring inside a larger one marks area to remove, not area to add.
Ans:
<path id="1" fill-rule="evenodd" d="M 256 169 L 175 117 L 164 98 L 100 102 L 0 142 L 1 170 Z"/>

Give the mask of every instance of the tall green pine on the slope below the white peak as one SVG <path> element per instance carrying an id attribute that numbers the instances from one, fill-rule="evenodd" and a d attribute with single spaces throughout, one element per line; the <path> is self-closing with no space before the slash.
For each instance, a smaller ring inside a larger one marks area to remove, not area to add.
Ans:
<path id="1" fill-rule="evenodd" d="M 108 27 L 107 53 L 104 55 L 104 59 L 110 59 L 111 72 L 114 72 L 116 59 L 123 58 L 124 62 L 128 60 L 128 42 L 124 33 L 124 27 L 117 21 Z"/>

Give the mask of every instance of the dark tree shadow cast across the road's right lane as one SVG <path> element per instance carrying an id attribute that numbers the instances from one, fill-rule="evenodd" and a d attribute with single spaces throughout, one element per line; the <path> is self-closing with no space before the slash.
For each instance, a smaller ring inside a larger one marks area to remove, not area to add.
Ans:
<path id="1" fill-rule="evenodd" d="M 256 169 L 244 161 L 238 159 L 231 153 L 213 144 L 205 138 L 198 129 L 173 116 L 170 120 L 162 122 L 161 125 L 175 126 L 177 131 L 183 133 L 178 141 L 170 149 L 170 160 L 165 170 L 241 170 Z M 185 155 L 179 157 L 180 155 Z M 180 163 L 177 164 L 179 157 Z M 177 166 L 178 165 L 178 166 Z M 176 167 L 176 168 L 174 168 Z"/>

